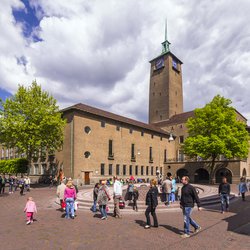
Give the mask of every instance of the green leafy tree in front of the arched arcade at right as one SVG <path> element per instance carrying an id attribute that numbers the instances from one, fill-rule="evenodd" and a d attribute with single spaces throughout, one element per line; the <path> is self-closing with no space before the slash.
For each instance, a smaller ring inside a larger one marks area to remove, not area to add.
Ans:
<path id="1" fill-rule="evenodd" d="M 187 122 L 189 136 L 184 151 L 190 157 L 211 160 L 210 182 L 214 176 L 215 161 L 220 155 L 228 159 L 246 158 L 249 135 L 246 124 L 236 119 L 230 99 L 217 95 L 205 107 L 195 109 L 195 117 Z"/>

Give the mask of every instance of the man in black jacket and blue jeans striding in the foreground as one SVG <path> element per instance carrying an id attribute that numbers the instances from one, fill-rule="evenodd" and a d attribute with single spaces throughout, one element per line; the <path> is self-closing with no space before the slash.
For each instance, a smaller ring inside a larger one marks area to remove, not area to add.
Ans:
<path id="1" fill-rule="evenodd" d="M 194 202 L 196 202 L 199 211 L 201 204 L 196 189 L 191 184 L 189 184 L 189 177 L 183 176 L 181 182 L 183 187 L 181 189 L 180 207 L 184 216 L 184 234 L 181 235 L 181 237 L 189 238 L 190 224 L 194 227 L 195 233 L 198 233 L 201 230 L 201 227 L 191 218 Z"/>

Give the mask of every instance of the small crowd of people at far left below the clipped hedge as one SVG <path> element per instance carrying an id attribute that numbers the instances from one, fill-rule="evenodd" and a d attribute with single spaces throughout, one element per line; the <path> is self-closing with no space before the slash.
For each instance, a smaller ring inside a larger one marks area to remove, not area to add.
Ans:
<path id="1" fill-rule="evenodd" d="M 0 176 L 0 194 L 5 193 L 5 187 L 8 184 L 9 194 L 13 194 L 20 188 L 20 195 L 23 195 L 24 190 L 30 191 L 30 178 L 29 176 L 17 176 L 10 175 L 6 178 L 5 175 Z"/>

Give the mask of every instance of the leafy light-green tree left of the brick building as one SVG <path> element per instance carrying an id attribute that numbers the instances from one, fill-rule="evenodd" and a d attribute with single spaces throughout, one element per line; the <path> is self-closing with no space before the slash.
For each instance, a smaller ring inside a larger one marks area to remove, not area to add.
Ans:
<path id="1" fill-rule="evenodd" d="M 0 143 L 25 153 L 28 170 L 32 158 L 42 149 L 59 150 L 63 144 L 65 121 L 56 100 L 36 81 L 19 85 L 16 94 L 1 101 Z"/>

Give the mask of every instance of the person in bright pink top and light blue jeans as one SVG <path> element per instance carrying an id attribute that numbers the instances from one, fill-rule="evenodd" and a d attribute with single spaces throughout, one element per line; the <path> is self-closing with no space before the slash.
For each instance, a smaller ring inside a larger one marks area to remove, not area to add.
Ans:
<path id="1" fill-rule="evenodd" d="M 72 181 L 68 181 L 64 190 L 64 201 L 66 203 L 66 219 L 75 219 L 74 202 L 76 200 L 76 190 Z"/>

